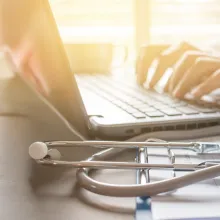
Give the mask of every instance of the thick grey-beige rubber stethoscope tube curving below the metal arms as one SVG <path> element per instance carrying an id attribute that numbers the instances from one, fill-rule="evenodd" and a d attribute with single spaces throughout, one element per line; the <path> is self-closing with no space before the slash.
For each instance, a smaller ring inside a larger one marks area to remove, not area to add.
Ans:
<path id="1" fill-rule="evenodd" d="M 106 156 L 113 155 L 115 149 L 111 149 L 108 154 L 99 153 L 99 159 L 107 159 Z M 90 158 L 90 161 L 93 158 Z M 78 169 L 77 180 L 81 187 L 100 195 L 113 197 L 137 197 L 137 196 L 154 196 L 161 193 L 167 193 L 176 189 L 206 180 L 215 178 L 220 175 L 220 165 L 214 165 L 201 170 L 197 170 L 180 177 L 161 180 L 146 184 L 117 185 L 102 183 L 92 179 L 89 176 L 89 170 L 85 168 Z"/>

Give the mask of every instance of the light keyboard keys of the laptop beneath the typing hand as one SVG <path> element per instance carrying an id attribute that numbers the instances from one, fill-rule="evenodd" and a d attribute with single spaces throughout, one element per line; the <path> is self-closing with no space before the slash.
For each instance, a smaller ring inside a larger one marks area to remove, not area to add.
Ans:
<path id="1" fill-rule="evenodd" d="M 215 107 L 190 104 L 105 75 L 83 74 L 76 78 L 81 88 L 94 92 L 137 119 L 220 112 Z"/>

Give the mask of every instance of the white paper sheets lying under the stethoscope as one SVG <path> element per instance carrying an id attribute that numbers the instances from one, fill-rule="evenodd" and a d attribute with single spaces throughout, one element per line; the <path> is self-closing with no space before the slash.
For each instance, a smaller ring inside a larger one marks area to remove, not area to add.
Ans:
<path id="1" fill-rule="evenodd" d="M 165 149 L 150 149 L 150 163 L 170 163 Z M 220 156 L 209 155 L 198 157 L 192 151 L 175 150 L 177 163 L 199 163 L 204 160 L 220 159 Z M 155 154 L 160 154 L 156 156 Z M 186 172 L 176 172 L 176 176 Z M 172 178 L 172 171 L 151 171 L 151 182 Z M 220 177 L 206 180 L 178 189 L 171 195 L 152 198 L 152 215 L 155 220 L 174 219 L 220 219 Z"/>

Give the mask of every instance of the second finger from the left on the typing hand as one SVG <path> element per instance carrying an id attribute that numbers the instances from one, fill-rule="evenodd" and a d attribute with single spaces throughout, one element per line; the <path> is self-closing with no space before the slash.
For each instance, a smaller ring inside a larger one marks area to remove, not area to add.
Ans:
<path id="1" fill-rule="evenodd" d="M 179 60 L 182 54 L 188 50 L 198 49 L 188 43 L 181 43 L 165 50 L 158 59 L 155 73 L 149 81 L 149 87 L 153 88 L 161 79 L 167 68 L 172 67 Z"/>

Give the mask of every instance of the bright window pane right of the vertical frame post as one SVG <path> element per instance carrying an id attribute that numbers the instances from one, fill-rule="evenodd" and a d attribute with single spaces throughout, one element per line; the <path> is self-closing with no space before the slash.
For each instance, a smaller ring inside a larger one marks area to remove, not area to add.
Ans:
<path id="1" fill-rule="evenodd" d="M 219 0 L 151 0 L 150 41 L 186 40 L 206 46 L 220 40 Z"/>

